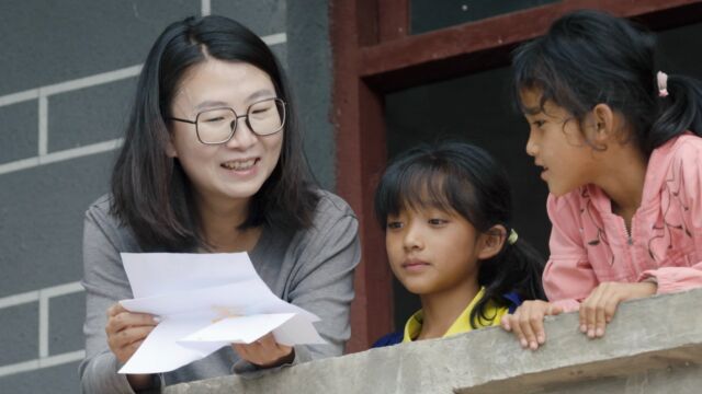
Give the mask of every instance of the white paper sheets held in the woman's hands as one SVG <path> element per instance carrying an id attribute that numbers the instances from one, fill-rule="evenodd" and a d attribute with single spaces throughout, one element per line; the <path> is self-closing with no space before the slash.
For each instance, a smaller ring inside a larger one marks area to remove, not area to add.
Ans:
<path id="1" fill-rule="evenodd" d="M 281 345 L 324 344 L 319 317 L 273 294 L 246 253 L 123 253 L 135 299 L 120 303 L 161 322 L 120 373 L 167 372 L 233 343 L 273 333 Z"/>

